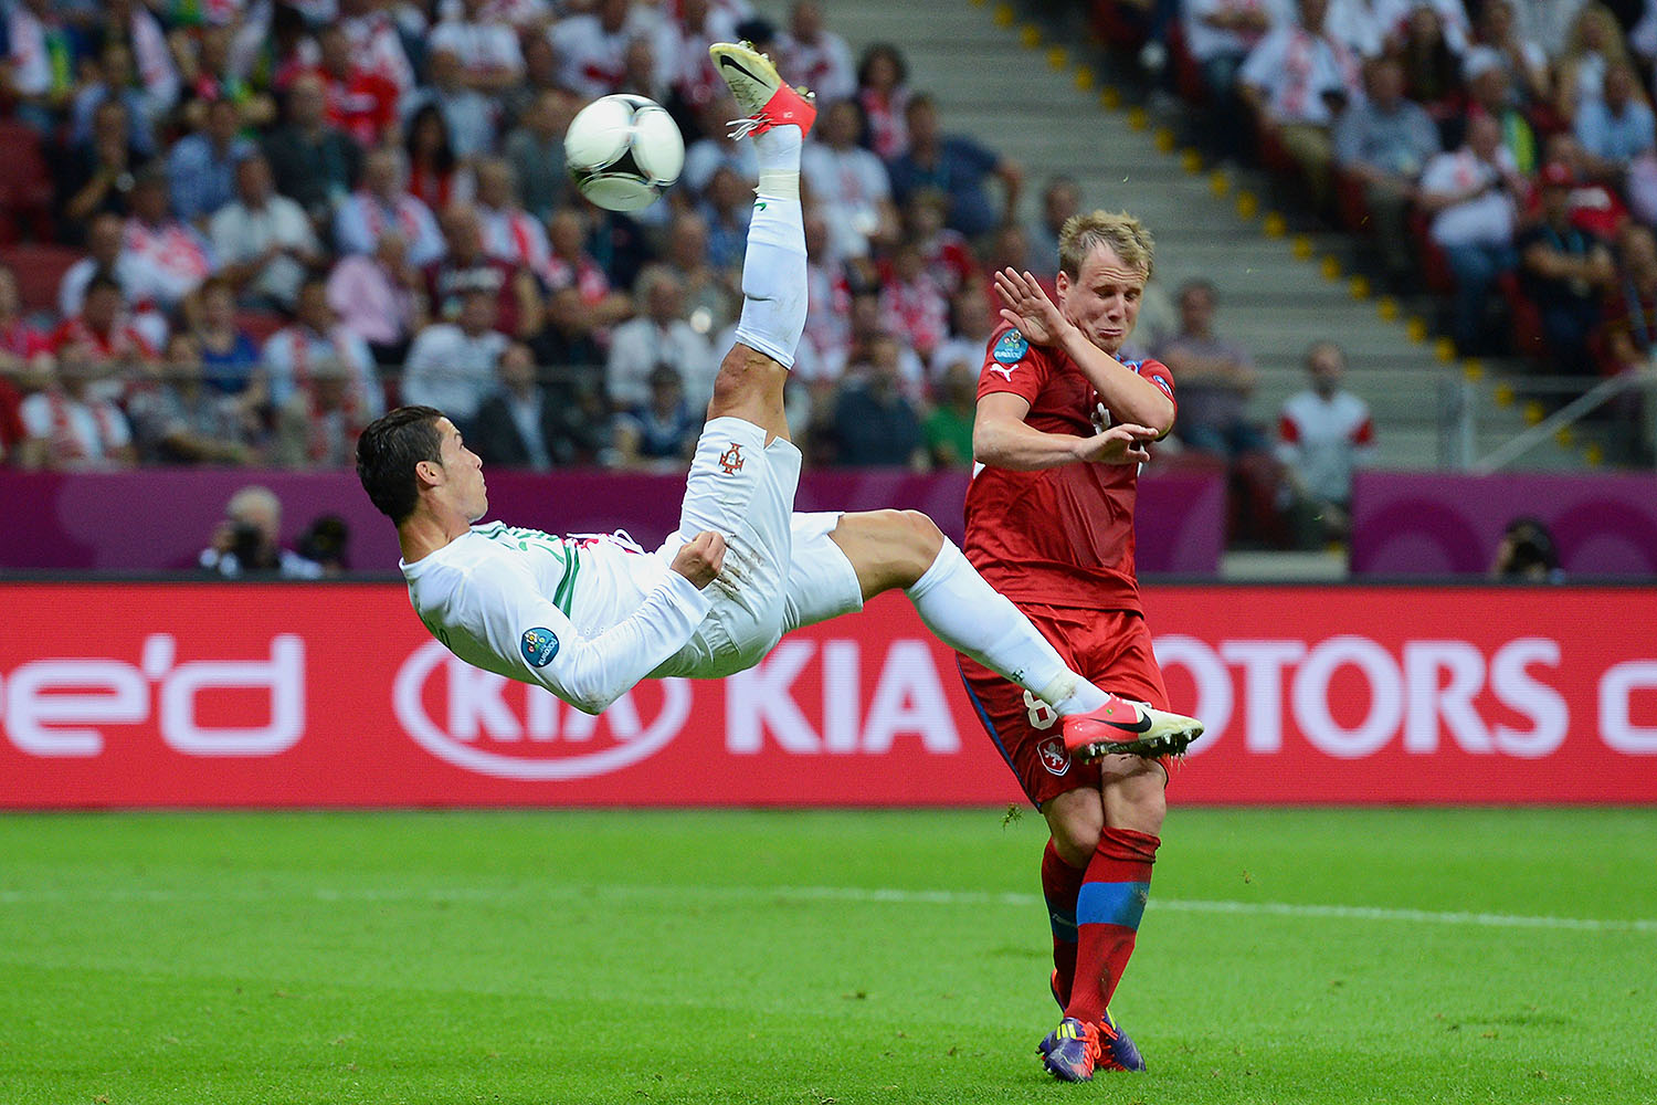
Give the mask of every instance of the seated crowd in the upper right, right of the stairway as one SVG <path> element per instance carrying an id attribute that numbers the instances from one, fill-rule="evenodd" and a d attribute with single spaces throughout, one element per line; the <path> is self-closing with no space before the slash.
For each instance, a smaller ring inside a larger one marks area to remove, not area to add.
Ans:
<path id="1" fill-rule="evenodd" d="M 1092 0 L 1223 157 L 1440 297 L 1461 355 L 1586 388 L 1657 340 L 1654 0 Z"/>

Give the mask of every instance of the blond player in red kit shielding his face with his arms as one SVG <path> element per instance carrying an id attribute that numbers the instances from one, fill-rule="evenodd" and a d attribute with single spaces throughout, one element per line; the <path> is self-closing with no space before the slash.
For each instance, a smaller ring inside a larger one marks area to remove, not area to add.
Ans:
<path id="1" fill-rule="evenodd" d="M 1133 497 L 1150 442 L 1173 426 L 1173 376 L 1118 359 L 1152 270 L 1152 237 L 1125 214 L 1065 222 L 1057 305 L 1036 277 L 996 273 L 1004 306 L 978 384 L 966 494 L 973 567 L 1036 623 L 1065 661 L 1115 697 L 1057 717 L 1039 699 L 961 658 L 984 727 L 1047 818 L 1042 891 L 1052 918 L 1052 992 L 1064 1021 L 1041 1042 L 1049 1072 L 1143 1070 L 1109 1014 L 1133 953 L 1167 812 L 1167 764 L 1201 734 L 1168 729 L 1162 673 L 1133 573 Z M 1162 734 L 1152 757 L 1120 750 L 1125 732 Z"/>

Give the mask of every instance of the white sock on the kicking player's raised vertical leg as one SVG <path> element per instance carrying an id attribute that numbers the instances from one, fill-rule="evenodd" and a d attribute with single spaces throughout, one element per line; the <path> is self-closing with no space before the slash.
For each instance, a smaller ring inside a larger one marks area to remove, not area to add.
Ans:
<path id="1" fill-rule="evenodd" d="M 759 138 L 771 138 L 777 131 L 794 134 L 792 157 L 799 166 L 800 128 L 774 128 Z M 761 171 L 762 181 L 764 174 Z M 784 368 L 794 368 L 794 350 L 805 331 L 805 220 L 795 169 L 792 197 L 762 191 L 754 200 L 747 252 L 742 257 L 742 316 L 736 325 L 736 340 Z"/>

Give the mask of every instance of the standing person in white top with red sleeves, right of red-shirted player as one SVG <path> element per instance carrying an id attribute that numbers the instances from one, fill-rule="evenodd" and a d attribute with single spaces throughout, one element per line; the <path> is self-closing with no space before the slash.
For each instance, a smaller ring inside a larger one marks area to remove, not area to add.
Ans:
<path id="1" fill-rule="evenodd" d="M 1294 492 L 1294 528 L 1302 545 L 1349 533 L 1352 472 L 1375 449 L 1369 404 L 1341 386 L 1345 353 L 1334 341 L 1306 351 L 1312 386 L 1289 396 L 1278 421 L 1278 459 Z"/>

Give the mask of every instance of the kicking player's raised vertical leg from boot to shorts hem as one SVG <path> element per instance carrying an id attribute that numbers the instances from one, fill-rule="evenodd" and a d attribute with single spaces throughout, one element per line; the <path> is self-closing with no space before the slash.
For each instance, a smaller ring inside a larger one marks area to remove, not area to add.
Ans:
<path id="1" fill-rule="evenodd" d="M 807 302 L 800 144 L 817 109 L 809 94 L 784 84 L 771 60 L 747 43 L 714 43 L 708 53 L 747 114 L 736 121 L 734 133 L 751 138 L 759 157 L 737 343 L 719 364 L 708 419 L 741 417 L 771 437 L 787 437 L 782 388 L 805 330 Z"/>

